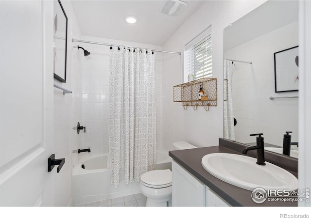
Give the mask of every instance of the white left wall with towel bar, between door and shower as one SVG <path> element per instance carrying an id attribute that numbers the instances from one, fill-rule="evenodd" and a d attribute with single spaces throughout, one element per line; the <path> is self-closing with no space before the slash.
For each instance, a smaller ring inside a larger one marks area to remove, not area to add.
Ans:
<path id="1" fill-rule="evenodd" d="M 71 90 L 72 94 L 65 94 L 59 89 L 54 88 L 54 151 L 55 158 L 65 158 L 65 164 L 59 173 L 54 175 L 54 206 L 71 205 L 71 146 L 77 146 L 75 135 L 72 134 L 72 123 L 79 116 L 79 93 L 76 86 L 72 86 L 72 79 L 78 71 L 78 59 L 75 50 L 71 47 L 71 38 L 79 37 L 80 29 L 76 21 L 70 1 L 62 1 L 63 8 L 68 17 L 68 40 L 67 40 L 67 75 L 66 83 L 54 79 L 54 83 L 65 89 Z M 73 60 L 71 64 L 71 60 Z M 76 81 L 76 79 L 74 80 Z M 71 105 L 72 101 L 72 105 Z M 82 106 L 82 103 L 81 103 Z M 71 111 L 73 112 L 71 114 Z M 82 111 L 80 111 L 82 117 Z M 74 142 L 71 144 L 71 142 Z"/>

